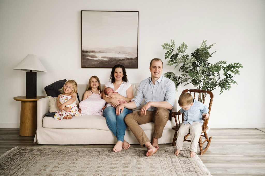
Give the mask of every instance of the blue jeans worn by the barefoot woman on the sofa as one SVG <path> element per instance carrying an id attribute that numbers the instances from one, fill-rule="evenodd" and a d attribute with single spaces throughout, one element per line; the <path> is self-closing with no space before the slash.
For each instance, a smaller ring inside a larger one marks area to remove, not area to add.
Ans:
<path id="1" fill-rule="evenodd" d="M 126 130 L 124 118 L 127 114 L 132 112 L 132 110 L 124 108 L 123 112 L 116 116 L 116 108 L 112 106 L 108 106 L 103 110 L 103 116 L 106 117 L 107 125 L 113 135 L 117 137 L 117 141 L 123 142 Z"/>

